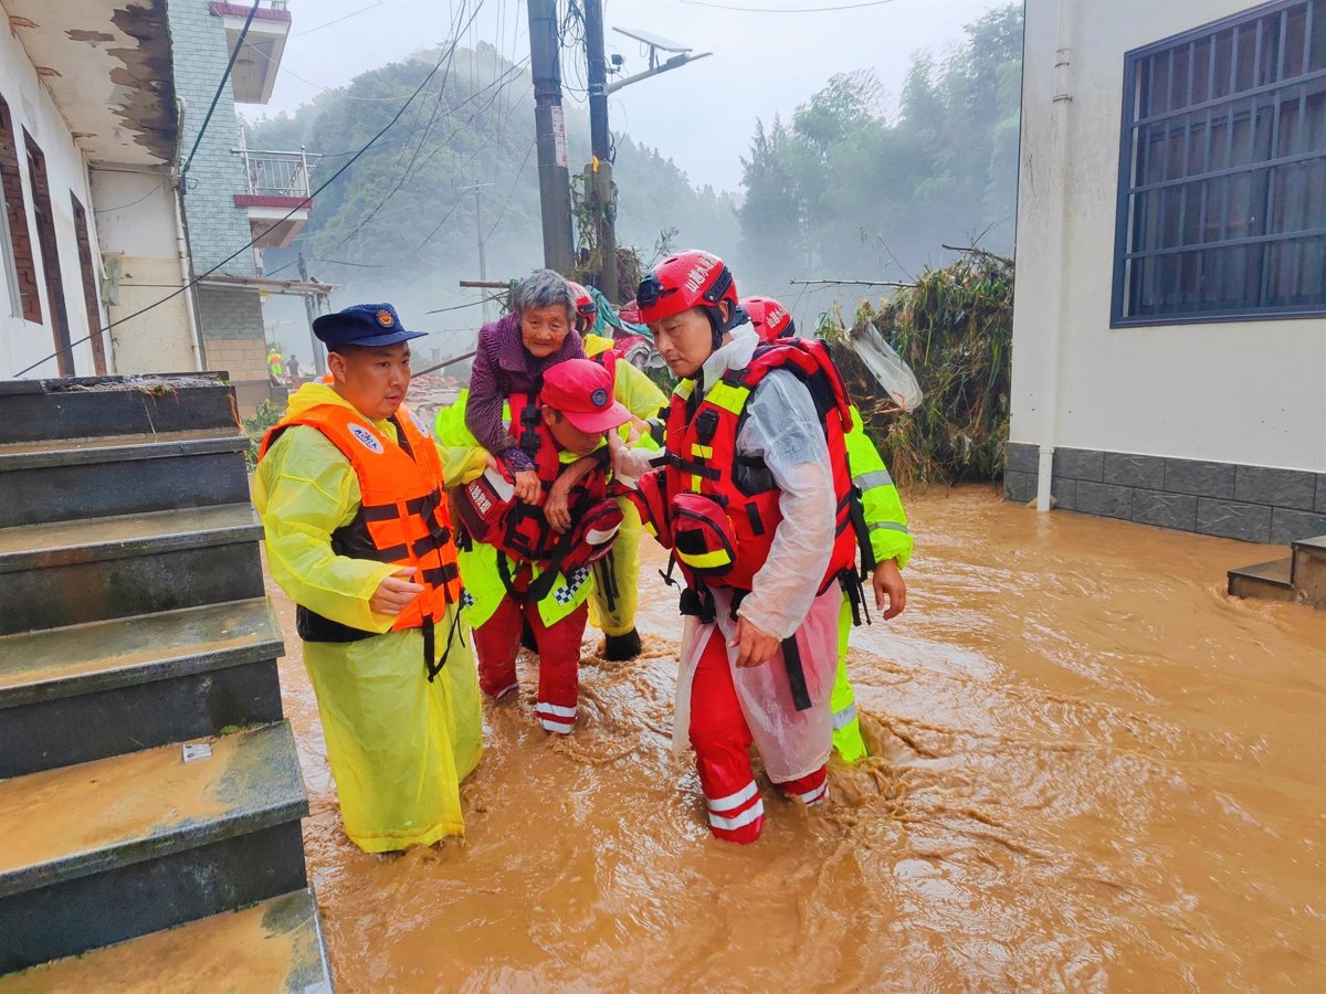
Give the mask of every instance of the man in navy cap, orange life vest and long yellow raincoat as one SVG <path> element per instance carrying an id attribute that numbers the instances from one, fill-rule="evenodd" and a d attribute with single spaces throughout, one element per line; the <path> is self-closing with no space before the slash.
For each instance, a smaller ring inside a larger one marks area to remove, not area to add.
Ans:
<path id="1" fill-rule="evenodd" d="M 332 383 L 306 383 L 253 477 L 272 575 L 298 604 L 346 835 L 366 852 L 463 835 L 479 684 L 442 467 L 402 407 L 410 338 L 390 305 L 314 322 Z"/>

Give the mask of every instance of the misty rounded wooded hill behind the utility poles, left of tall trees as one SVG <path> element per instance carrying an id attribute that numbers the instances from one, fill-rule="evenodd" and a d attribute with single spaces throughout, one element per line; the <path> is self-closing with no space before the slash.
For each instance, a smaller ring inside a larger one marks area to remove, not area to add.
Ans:
<path id="1" fill-rule="evenodd" d="M 390 121 L 439 54 L 424 50 L 362 73 L 293 117 L 260 118 L 249 126 L 249 146 L 324 152 L 317 184 Z M 589 159 L 589 121 L 570 101 L 566 125 L 574 171 Z M 692 188 L 659 152 L 614 138 L 619 244 L 638 247 L 650 261 L 660 232 L 675 228 L 676 244 L 736 249 L 731 197 Z M 473 300 L 456 284 L 479 277 L 475 192 L 461 190 L 479 183 L 492 184 L 481 192 L 488 277 L 538 265 L 533 83 L 525 64 L 512 65 L 487 44 L 456 50 L 450 70 L 434 77 L 395 127 L 317 196 L 294 249 L 269 252 L 267 269 L 292 265 L 297 249 L 310 274 L 350 292 L 362 288 L 359 296 L 371 286 L 377 297 L 394 294 L 420 310 Z M 472 317 L 460 323 L 473 325 Z"/>

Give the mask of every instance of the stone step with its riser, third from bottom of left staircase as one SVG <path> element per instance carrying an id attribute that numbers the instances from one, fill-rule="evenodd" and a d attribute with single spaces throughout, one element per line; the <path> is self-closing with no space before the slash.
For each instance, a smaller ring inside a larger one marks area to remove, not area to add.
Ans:
<path id="1" fill-rule="evenodd" d="M 265 598 L 0 636 L 0 778 L 281 718 Z"/>

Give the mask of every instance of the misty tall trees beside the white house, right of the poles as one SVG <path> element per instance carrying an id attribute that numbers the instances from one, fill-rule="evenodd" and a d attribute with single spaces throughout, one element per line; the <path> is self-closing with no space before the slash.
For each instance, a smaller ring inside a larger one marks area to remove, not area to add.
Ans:
<path id="1" fill-rule="evenodd" d="M 944 61 L 912 57 L 895 110 L 871 70 L 847 72 L 790 121 L 757 123 L 743 159 L 743 262 L 789 277 L 910 280 L 941 245 L 1012 253 L 1021 4 L 965 29 Z"/>

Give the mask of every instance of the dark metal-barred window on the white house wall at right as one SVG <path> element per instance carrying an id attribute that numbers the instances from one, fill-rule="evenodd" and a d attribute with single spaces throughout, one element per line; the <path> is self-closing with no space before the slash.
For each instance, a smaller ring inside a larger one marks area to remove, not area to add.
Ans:
<path id="1" fill-rule="evenodd" d="M 1254 24 L 1264 17 L 1273 16 L 1276 13 L 1282 13 L 1285 11 L 1293 9 L 1301 4 L 1306 3 L 1309 9 L 1311 9 L 1311 0 L 1272 0 L 1272 3 L 1260 4 L 1248 11 L 1238 11 L 1237 13 L 1229 15 L 1228 17 L 1221 17 L 1220 20 L 1211 21 L 1209 24 L 1203 24 L 1197 28 L 1192 28 L 1177 34 L 1171 34 L 1167 38 L 1154 41 L 1142 48 L 1126 52 L 1123 56 L 1123 106 L 1120 110 L 1119 122 L 1119 171 L 1116 182 L 1115 193 L 1115 220 L 1114 220 L 1114 285 L 1110 290 L 1110 327 L 1111 329 L 1128 329 L 1128 327 L 1155 327 L 1166 325 L 1213 325 L 1227 321 L 1286 321 L 1296 318 L 1314 318 L 1326 314 L 1326 301 L 1322 304 L 1311 305 L 1286 305 L 1286 306 L 1256 306 L 1256 307 L 1238 307 L 1238 309 L 1225 309 L 1213 311 L 1185 311 L 1181 314 L 1146 314 L 1146 315 L 1127 315 L 1123 314 L 1124 298 L 1128 293 L 1126 273 L 1128 272 L 1130 261 L 1140 261 L 1144 258 L 1163 257 L 1170 254 L 1180 254 L 1185 252 L 1203 252 L 1208 249 L 1220 248 L 1237 248 L 1244 244 L 1272 244 L 1277 241 L 1296 241 L 1305 237 L 1313 237 L 1321 235 L 1322 231 L 1303 229 L 1294 232 L 1277 232 L 1272 235 L 1252 236 L 1248 239 L 1228 239 L 1217 243 L 1197 244 L 1197 245 L 1174 245 L 1156 249 L 1144 249 L 1139 252 L 1128 250 L 1128 233 L 1131 231 L 1131 217 L 1130 217 L 1130 201 L 1138 193 L 1147 193 L 1152 191 L 1170 190 L 1179 186 L 1185 186 L 1188 183 L 1204 179 L 1215 179 L 1221 175 L 1237 175 L 1242 172 L 1257 174 L 1266 172 L 1270 175 L 1272 170 L 1281 164 L 1292 164 L 1294 162 L 1311 162 L 1323 158 L 1321 152 L 1306 152 L 1298 155 L 1288 156 L 1274 156 L 1274 143 L 1272 146 L 1273 158 L 1265 162 L 1237 166 L 1237 167 L 1224 167 L 1221 170 L 1209 170 L 1209 147 L 1208 158 L 1205 166 L 1207 172 L 1193 176 L 1183 176 L 1180 179 L 1172 180 L 1159 180 L 1155 183 L 1147 183 L 1140 187 L 1132 187 L 1132 179 L 1135 175 L 1134 164 L 1135 156 L 1140 154 L 1136 147 L 1135 134 L 1136 129 L 1143 125 L 1164 122 L 1167 119 L 1175 118 L 1181 114 L 1189 114 L 1195 111 L 1205 110 L 1208 111 L 1208 130 L 1211 126 L 1211 111 L 1220 107 L 1228 107 L 1238 101 L 1257 97 L 1265 97 L 1273 94 L 1281 89 L 1289 89 L 1293 86 L 1299 86 L 1315 81 L 1317 78 L 1326 74 L 1326 69 L 1313 70 L 1303 73 L 1301 76 L 1292 77 L 1292 80 L 1278 80 L 1274 83 L 1254 85 L 1249 90 L 1242 90 L 1238 93 L 1231 93 L 1227 97 L 1219 99 L 1208 98 L 1196 105 L 1184 107 L 1177 111 L 1163 111 L 1159 114 L 1151 114 L 1150 117 L 1142 118 L 1135 114 L 1139 87 L 1138 87 L 1138 65 L 1154 56 L 1174 53 L 1183 45 L 1191 45 L 1200 42 L 1203 40 L 1209 40 L 1212 45 L 1215 38 L 1224 30 L 1238 29 L 1248 24 Z M 1237 36 L 1236 36 L 1237 37 Z M 1257 61 L 1261 60 L 1261 44 L 1257 44 Z M 1303 38 L 1305 52 L 1310 45 L 1311 38 Z M 1284 46 L 1281 46 L 1281 58 L 1284 58 Z M 1171 61 L 1171 73 L 1174 65 Z M 1231 70 L 1236 72 L 1236 58 L 1231 54 Z M 1189 66 L 1191 73 L 1191 66 Z M 1256 70 L 1254 70 L 1256 82 Z M 1278 114 L 1276 118 L 1276 126 L 1278 127 Z M 1256 121 L 1253 121 L 1250 131 L 1256 134 Z M 1208 138 L 1209 142 L 1209 138 Z M 1184 147 L 1184 156 L 1187 156 L 1187 146 Z M 1209 175 L 1208 175 L 1209 174 Z M 1205 200 L 1203 199 L 1203 204 Z M 1269 220 L 1269 219 L 1268 219 Z M 1155 221 L 1156 224 L 1163 223 L 1162 220 Z M 1265 289 L 1266 273 L 1262 273 L 1262 286 Z"/>

